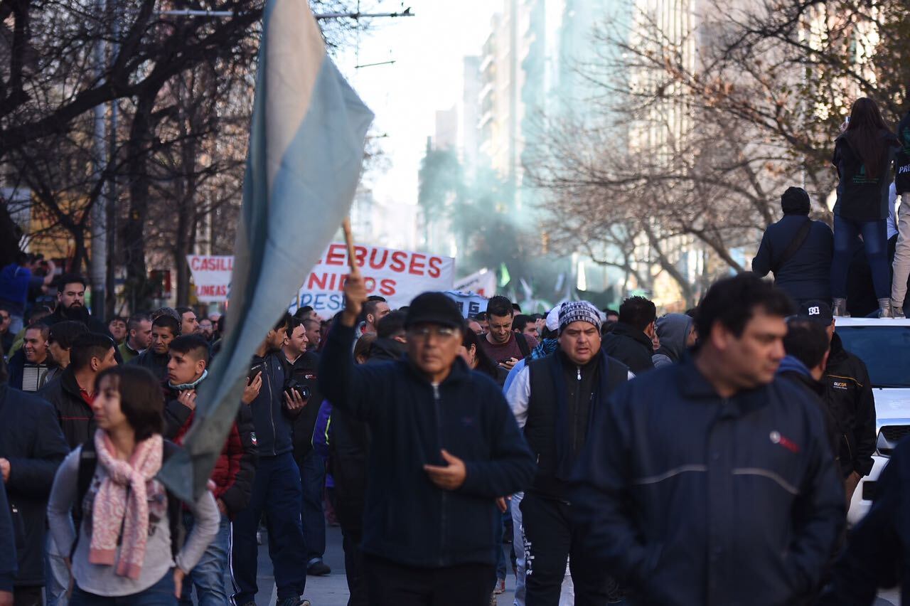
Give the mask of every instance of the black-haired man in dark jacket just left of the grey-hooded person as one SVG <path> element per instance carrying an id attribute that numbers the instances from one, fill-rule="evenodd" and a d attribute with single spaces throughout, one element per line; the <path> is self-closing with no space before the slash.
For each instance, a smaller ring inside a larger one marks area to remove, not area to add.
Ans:
<path id="1" fill-rule="evenodd" d="M 657 308 L 644 297 L 622 301 L 620 320 L 603 338 L 603 351 L 618 359 L 636 375 L 654 368 L 654 322 Z"/>

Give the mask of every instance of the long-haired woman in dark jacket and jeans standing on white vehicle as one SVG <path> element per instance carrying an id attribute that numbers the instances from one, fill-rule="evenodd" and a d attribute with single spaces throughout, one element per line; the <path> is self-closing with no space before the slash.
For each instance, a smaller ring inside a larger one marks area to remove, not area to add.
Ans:
<path id="1" fill-rule="evenodd" d="M 872 268 L 879 315 L 891 317 L 888 272 L 888 187 L 897 139 L 885 126 L 875 101 L 856 99 L 844 132 L 834 142 L 832 162 L 840 182 L 834 205 L 834 262 L 831 294 L 834 315 L 846 315 L 847 268 L 857 237 Z"/>

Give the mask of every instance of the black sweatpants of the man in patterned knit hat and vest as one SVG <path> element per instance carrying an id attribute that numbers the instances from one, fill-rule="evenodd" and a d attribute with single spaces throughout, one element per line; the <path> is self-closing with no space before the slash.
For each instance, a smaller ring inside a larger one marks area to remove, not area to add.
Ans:
<path id="1" fill-rule="evenodd" d="M 575 588 L 575 606 L 603 606 L 612 583 L 602 569 L 591 566 L 581 536 L 572 532 L 569 503 L 525 492 L 521 500 L 524 529 L 525 606 L 558 606 L 566 560 Z"/>

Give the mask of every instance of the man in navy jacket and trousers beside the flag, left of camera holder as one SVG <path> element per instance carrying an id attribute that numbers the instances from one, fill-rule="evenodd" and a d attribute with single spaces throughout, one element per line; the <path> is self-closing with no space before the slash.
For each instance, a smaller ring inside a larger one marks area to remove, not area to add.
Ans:
<path id="1" fill-rule="evenodd" d="M 253 356 L 250 385 L 244 404 L 253 412 L 258 446 L 258 466 L 247 509 L 234 519 L 231 574 L 238 606 L 256 606 L 258 585 L 256 530 L 263 511 L 268 530 L 278 606 L 298 606 L 307 582 L 306 544 L 300 525 L 300 470 L 294 461 L 291 422 L 306 402 L 296 389 L 285 389 L 279 356 L 288 334 L 285 314 Z"/>

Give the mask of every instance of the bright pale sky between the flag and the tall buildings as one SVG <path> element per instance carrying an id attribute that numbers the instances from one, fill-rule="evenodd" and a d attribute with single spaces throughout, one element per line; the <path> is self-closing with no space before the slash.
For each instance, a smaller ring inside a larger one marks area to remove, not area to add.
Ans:
<path id="1" fill-rule="evenodd" d="M 502 0 L 385 0 L 363 2 L 364 12 L 400 11 L 416 16 L 370 20 L 360 35 L 359 63 L 394 60 L 391 66 L 354 69 L 354 49 L 337 58 L 342 73 L 376 114 L 374 131 L 389 170 L 369 181 L 383 205 L 417 202 L 417 172 L 435 113 L 458 104 L 462 94 L 462 58 L 479 55 L 490 35 L 490 18 Z"/>

